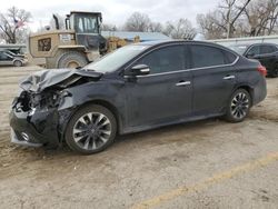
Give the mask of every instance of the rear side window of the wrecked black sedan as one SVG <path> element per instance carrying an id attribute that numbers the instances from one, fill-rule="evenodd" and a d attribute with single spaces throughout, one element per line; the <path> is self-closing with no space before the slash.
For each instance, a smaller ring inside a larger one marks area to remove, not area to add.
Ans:
<path id="1" fill-rule="evenodd" d="M 190 46 L 192 68 L 220 66 L 227 63 L 227 58 L 221 49 L 208 46 Z M 232 60 L 232 58 L 231 58 Z M 235 59 L 234 59 L 235 60 Z"/>

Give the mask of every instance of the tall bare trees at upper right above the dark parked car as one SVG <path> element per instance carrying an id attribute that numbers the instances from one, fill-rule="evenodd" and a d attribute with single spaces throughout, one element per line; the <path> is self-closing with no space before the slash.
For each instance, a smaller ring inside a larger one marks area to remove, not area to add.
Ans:
<path id="1" fill-rule="evenodd" d="M 278 0 L 222 0 L 208 13 L 197 16 L 206 39 L 276 34 Z"/>

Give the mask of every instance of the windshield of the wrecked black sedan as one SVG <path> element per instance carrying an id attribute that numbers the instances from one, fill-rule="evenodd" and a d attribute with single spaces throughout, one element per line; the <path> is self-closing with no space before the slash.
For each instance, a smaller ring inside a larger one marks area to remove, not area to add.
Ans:
<path id="1" fill-rule="evenodd" d="M 137 46 L 137 44 L 130 44 L 127 47 L 122 47 L 120 49 L 117 49 L 116 51 L 108 53 L 103 58 L 89 63 L 88 66 L 83 67 L 83 69 L 93 70 L 97 72 L 112 72 L 117 69 L 119 69 L 121 66 L 123 66 L 126 62 L 128 62 L 130 59 L 138 56 L 140 52 L 142 52 L 145 49 L 147 49 L 148 46 Z"/>

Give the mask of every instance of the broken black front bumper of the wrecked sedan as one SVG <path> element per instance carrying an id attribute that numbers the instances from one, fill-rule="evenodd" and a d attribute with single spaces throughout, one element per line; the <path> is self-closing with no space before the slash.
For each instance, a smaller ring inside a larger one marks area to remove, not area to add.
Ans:
<path id="1" fill-rule="evenodd" d="M 10 111 L 11 142 L 21 146 L 40 147 L 59 145 L 59 116 L 56 109 L 48 111 Z"/>

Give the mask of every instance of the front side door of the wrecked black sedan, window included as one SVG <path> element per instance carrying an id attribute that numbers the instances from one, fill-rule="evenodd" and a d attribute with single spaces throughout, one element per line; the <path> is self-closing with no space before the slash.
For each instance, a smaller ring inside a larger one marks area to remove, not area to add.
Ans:
<path id="1" fill-rule="evenodd" d="M 192 77 L 186 58 L 185 46 L 167 46 L 131 66 L 147 64 L 150 73 L 126 81 L 129 127 L 168 123 L 191 113 Z"/>

